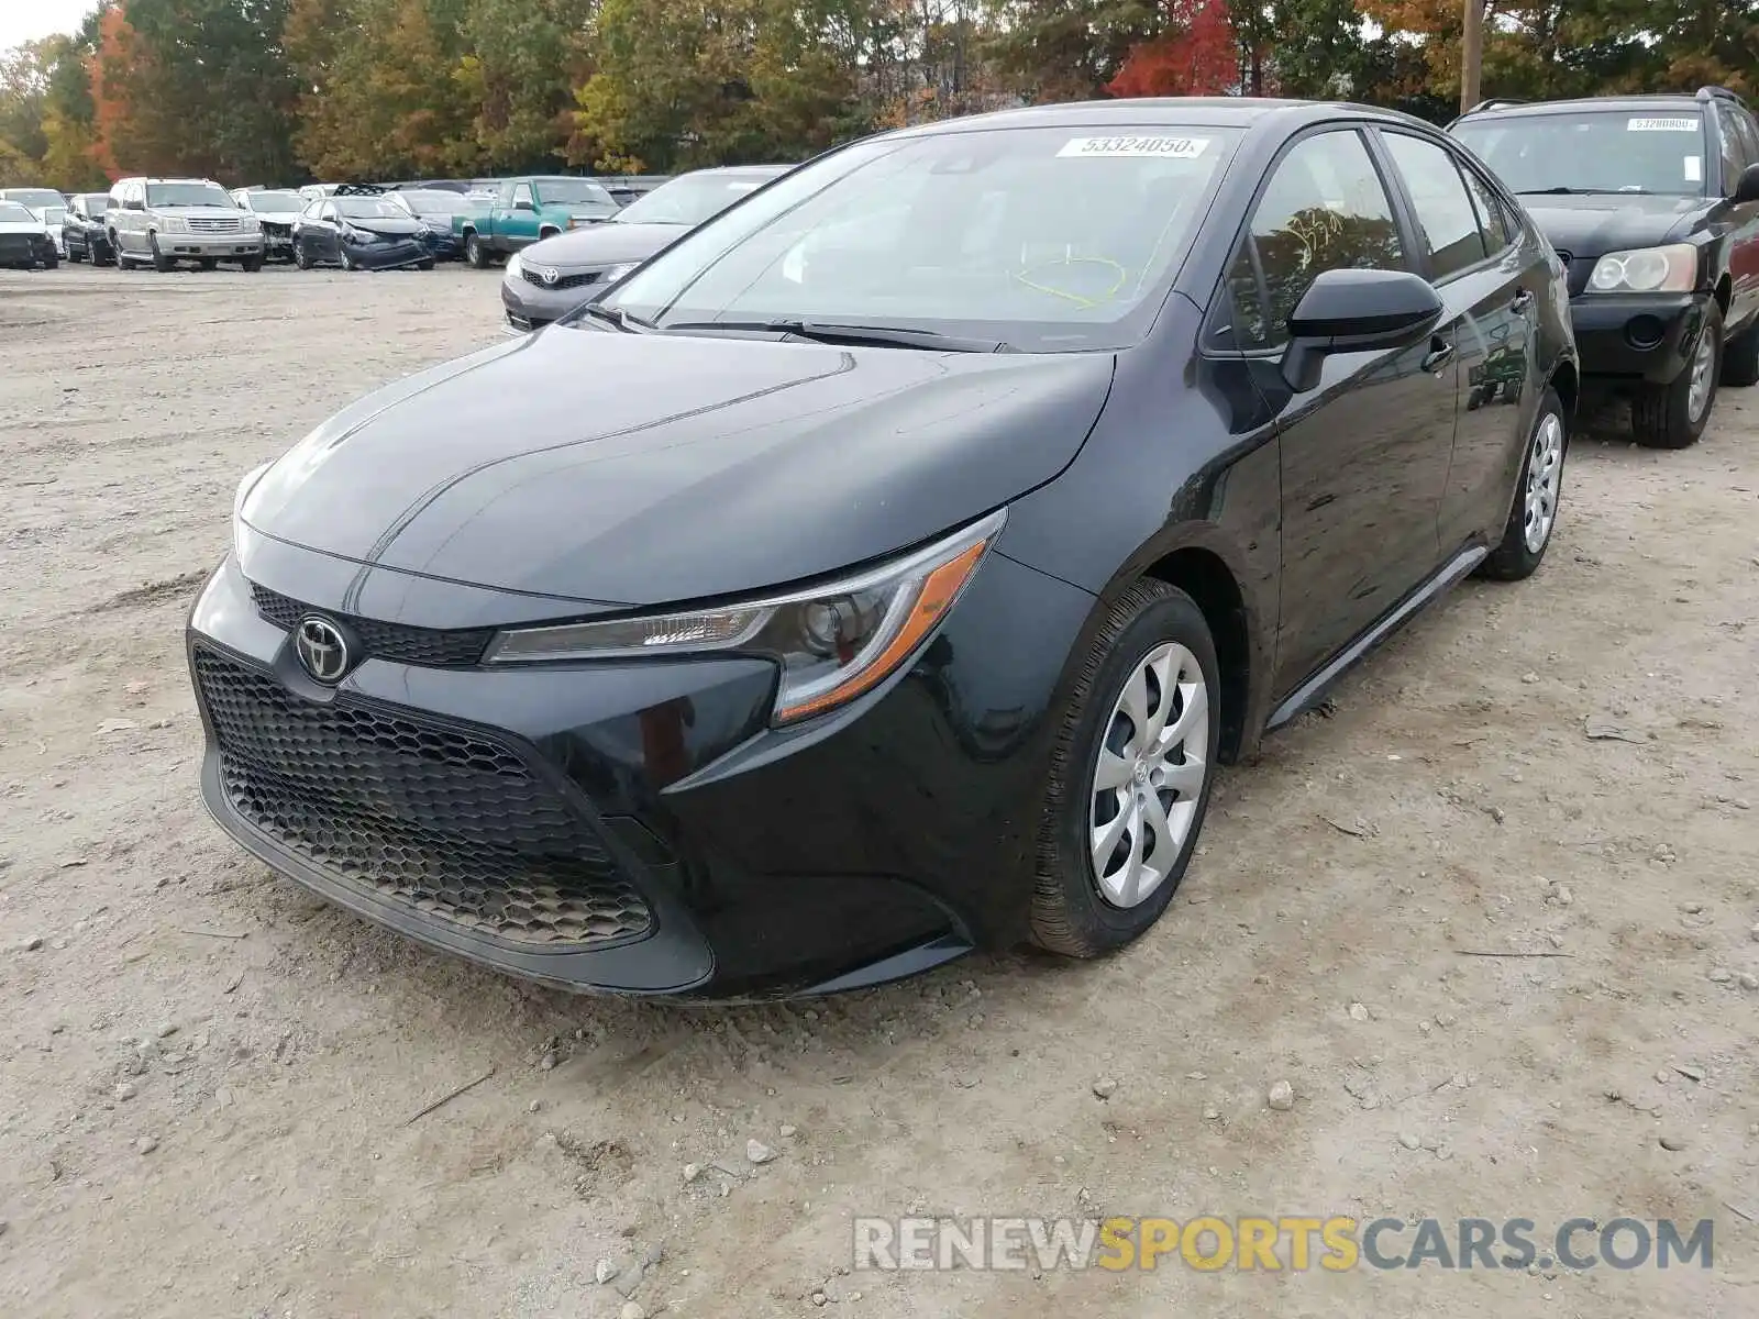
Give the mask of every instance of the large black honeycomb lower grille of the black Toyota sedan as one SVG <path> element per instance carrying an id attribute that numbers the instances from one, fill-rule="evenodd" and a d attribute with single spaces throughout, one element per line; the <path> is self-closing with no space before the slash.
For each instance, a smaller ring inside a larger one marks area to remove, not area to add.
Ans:
<path id="1" fill-rule="evenodd" d="M 347 696 L 313 705 L 206 647 L 193 667 L 227 802 L 334 879 L 521 946 L 653 929 L 603 841 L 512 747 Z"/>

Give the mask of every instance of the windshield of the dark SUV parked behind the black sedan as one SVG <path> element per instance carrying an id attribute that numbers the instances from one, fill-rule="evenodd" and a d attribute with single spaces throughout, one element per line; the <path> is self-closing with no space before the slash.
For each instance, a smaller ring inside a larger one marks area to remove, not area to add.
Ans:
<path id="1" fill-rule="evenodd" d="M 1692 109 L 1499 116 L 1453 135 L 1518 193 L 1704 193 L 1704 123 Z"/>

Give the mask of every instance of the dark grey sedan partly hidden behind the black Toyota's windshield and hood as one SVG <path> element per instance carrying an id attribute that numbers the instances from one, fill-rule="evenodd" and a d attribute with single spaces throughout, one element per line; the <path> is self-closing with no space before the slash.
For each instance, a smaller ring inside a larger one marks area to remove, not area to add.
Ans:
<path id="1" fill-rule="evenodd" d="M 556 234 L 515 251 L 501 278 L 507 324 L 529 331 L 573 311 L 695 225 L 786 171 L 788 165 L 698 169 L 663 183 L 602 225 Z"/>

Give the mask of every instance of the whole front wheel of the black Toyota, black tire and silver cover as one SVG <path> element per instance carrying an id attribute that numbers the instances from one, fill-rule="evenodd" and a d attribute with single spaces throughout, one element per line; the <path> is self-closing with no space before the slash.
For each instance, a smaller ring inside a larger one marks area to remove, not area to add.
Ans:
<path id="1" fill-rule="evenodd" d="M 1215 776 L 1221 677 L 1203 610 L 1131 586 L 1082 665 L 1052 753 L 1033 941 L 1064 957 L 1122 948 L 1184 879 Z"/>

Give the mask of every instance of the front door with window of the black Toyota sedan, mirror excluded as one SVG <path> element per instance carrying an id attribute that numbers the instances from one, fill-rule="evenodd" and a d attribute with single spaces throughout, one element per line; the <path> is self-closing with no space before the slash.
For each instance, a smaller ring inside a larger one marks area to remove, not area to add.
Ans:
<path id="1" fill-rule="evenodd" d="M 1279 359 L 1288 318 L 1321 271 L 1414 269 L 1391 197 L 1356 128 L 1295 141 L 1252 208 L 1228 283 L 1237 345 L 1277 413 L 1282 607 L 1277 695 L 1288 695 L 1435 568 L 1435 506 L 1453 447 L 1455 376 L 1428 336 L 1393 352 L 1332 353 L 1296 392 Z M 1446 355 L 1446 353 L 1442 353 Z"/>

